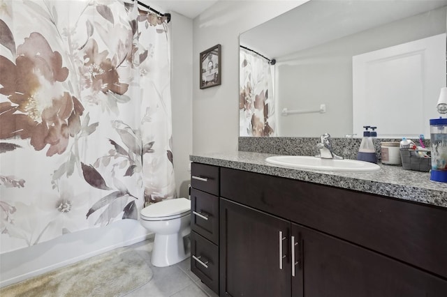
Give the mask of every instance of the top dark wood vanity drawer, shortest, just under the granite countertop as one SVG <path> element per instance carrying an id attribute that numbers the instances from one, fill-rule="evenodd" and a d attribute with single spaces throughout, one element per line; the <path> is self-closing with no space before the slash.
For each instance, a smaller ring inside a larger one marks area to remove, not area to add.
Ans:
<path id="1" fill-rule="evenodd" d="M 191 187 L 219 196 L 219 167 L 192 163 Z"/>

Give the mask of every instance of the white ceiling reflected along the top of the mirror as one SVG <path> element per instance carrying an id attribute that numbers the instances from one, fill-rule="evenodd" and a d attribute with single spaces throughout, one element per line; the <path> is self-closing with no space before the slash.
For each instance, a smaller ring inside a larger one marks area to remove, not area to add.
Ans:
<path id="1" fill-rule="evenodd" d="M 446 5 L 447 0 L 313 0 L 242 33 L 240 40 L 241 45 L 278 59 Z"/>

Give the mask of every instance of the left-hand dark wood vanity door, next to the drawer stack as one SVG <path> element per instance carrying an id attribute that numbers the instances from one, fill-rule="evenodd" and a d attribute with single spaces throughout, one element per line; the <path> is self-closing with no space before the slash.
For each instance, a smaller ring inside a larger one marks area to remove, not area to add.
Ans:
<path id="1" fill-rule="evenodd" d="M 220 296 L 291 296 L 290 222 L 220 199 Z"/>

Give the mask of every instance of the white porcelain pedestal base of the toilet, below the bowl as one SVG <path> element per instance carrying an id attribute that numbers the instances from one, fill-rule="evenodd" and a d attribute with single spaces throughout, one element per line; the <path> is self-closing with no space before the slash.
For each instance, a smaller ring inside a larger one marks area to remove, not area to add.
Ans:
<path id="1" fill-rule="evenodd" d="M 155 234 L 152 248 L 151 263 L 156 267 L 166 267 L 177 264 L 189 257 L 186 251 L 182 233 Z"/>

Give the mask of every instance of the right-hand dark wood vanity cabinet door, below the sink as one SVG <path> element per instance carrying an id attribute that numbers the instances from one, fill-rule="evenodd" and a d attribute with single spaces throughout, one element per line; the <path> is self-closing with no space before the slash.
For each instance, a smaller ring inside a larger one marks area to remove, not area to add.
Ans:
<path id="1" fill-rule="evenodd" d="M 400 261 L 298 224 L 291 236 L 298 243 L 293 296 L 446 296 L 446 280 Z"/>

